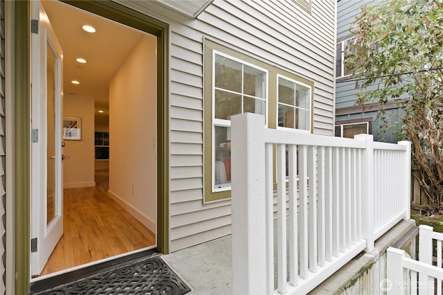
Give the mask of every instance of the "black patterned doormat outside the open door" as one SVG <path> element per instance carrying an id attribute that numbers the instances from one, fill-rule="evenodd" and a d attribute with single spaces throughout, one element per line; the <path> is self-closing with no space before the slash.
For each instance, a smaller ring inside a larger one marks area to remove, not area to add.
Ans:
<path id="1" fill-rule="evenodd" d="M 159 256 L 154 256 L 33 294 L 179 295 L 190 290 Z"/>

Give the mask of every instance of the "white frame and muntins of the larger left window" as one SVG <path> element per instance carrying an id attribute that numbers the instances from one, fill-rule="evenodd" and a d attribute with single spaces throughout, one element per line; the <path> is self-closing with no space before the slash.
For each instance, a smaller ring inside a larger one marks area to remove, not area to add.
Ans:
<path id="1" fill-rule="evenodd" d="M 215 188 L 215 127 L 229 127 L 230 128 L 230 120 L 225 120 L 225 119 L 219 119 L 219 118 L 215 118 L 215 90 L 217 89 L 217 87 L 215 87 L 215 55 L 219 55 L 219 56 L 223 56 L 226 57 L 230 60 L 233 60 L 235 62 L 239 62 L 243 65 L 246 66 L 251 66 L 254 69 L 263 71 L 265 73 L 264 75 L 264 89 L 263 89 L 263 93 L 264 93 L 264 126 L 267 128 L 268 127 L 268 112 L 269 112 L 269 100 L 268 100 L 268 88 L 269 88 L 269 71 L 266 69 L 263 69 L 260 66 L 256 66 L 255 64 L 251 64 L 249 62 L 245 62 L 244 60 L 240 60 L 238 58 L 235 58 L 231 55 L 228 55 L 226 53 L 221 53 L 220 51 L 215 51 L 213 50 L 213 57 L 212 57 L 212 62 L 213 62 L 213 71 L 211 73 L 212 77 L 212 84 L 213 84 L 213 89 L 211 89 L 211 99 L 212 99 L 212 138 L 211 138 L 211 190 L 213 193 L 219 193 L 219 192 L 224 192 L 224 191 L 228 191 L 231 190 L 231 184 L 224 184 L 224 185 L 219 185 L 219 188 Z M 242 88 L 243 88 L 243 82 L 242 82 Z M 224 91 L 226 91 L 226 89 L 223 89 Z M 243 89 L 242 89 L 243 91 Z M 237 93 L 234 92 L 233 93 Z M 241 93 L 242 96 L 248 96 L 245 95 L 244 93 Z M 248 97 L 253 97 L 254 96 L 248 96 Z M 261 99 L 261 98 L 257 98 L 257 99 Z M 242 106 L 242 111 L 243 111 L 243 106 Z"/>

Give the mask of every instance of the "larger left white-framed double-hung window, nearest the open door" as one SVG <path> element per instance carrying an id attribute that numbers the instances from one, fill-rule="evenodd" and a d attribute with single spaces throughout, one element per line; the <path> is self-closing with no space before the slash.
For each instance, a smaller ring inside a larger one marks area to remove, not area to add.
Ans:
<path id="1" fill-rule="evenodd" d="M 266 115 L 267 71 L 213 52 L 213 192 L 230 190 L 230 116 Z"/>

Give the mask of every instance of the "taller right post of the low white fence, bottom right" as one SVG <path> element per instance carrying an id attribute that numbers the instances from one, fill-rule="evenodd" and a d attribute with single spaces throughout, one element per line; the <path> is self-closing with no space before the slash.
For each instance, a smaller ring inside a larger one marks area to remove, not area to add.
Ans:
<path id="1" fill-rule="evenodd" d="M 432 232 L 434 228 L 428 225 L 420 225 L 418 227 L 418 260 L 427 265 L 432 265 L 433 246 Z M 426 274 L 419 273 L 419 294 L 434 294 L 434 282 L 432 278 Z"/>

